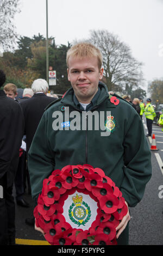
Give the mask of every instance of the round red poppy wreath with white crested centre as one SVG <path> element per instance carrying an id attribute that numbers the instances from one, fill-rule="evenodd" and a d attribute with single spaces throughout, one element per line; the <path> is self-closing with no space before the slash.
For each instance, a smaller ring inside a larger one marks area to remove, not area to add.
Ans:
<path id="1" fill-rule="evenodd" d="M 84 196 L 93 200 L 96 211 Z M 127 212 L 122 192 L 104 171 L 79 164 L 54 170 L 43 180 L 34 217 L 51 245 L 117 245 L 116 227 Z"/>

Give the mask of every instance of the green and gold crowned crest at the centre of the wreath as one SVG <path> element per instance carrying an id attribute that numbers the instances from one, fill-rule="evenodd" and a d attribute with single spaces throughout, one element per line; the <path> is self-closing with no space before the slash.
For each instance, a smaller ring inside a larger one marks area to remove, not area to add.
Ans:
<path id="1" fill-rule="evenodd" d="M 83 201 L 83 196 L 76 194 L 76 196 L 72 197 L 72 204 L 68 210 L 68 215 L 70 220 L 77 224 L 78 227 L 80 225 L 85 225 L 91 218 L 91 209 L 90 206 Z"/>

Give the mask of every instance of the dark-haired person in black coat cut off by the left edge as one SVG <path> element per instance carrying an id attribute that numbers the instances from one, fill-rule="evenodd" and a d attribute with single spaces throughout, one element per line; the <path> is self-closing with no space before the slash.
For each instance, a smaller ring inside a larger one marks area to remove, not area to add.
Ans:
<path id="1" fill-rule="evenodd" d="M 0 88 L 4 82 L 5 74 L 0 70 Z M 23 113 L 19 103 L 0 90 L 0 245 L 15 244 L 15 202 L 12 188 L 23 129 Z"/>

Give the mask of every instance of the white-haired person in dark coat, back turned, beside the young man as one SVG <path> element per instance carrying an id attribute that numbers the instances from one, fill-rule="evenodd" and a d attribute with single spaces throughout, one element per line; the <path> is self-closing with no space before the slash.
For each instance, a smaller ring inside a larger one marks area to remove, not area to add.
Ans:
<path id="1" fill-rule="evenodd" d="M 46 80 L 37 79 L 32 84 L 32 90 L 34 95 L 28 100 L 21 100 L 20 105 L 24 114 L 24 135 L 26 135 L 26 153 L 28 156 L 28 151 L 30 144 L 32 143 L 33 137 L 35 135 L 37 126 L 39 125 L 40 119 L 45 108 L 49 103 L 57 100 L 55 97 L 47 96 L 48 83 Z M 27 171 L 27 180 L 29 184 L 29 174 Z M 27 218 L 26 224 L 34 225 L 34 218 Z"/>

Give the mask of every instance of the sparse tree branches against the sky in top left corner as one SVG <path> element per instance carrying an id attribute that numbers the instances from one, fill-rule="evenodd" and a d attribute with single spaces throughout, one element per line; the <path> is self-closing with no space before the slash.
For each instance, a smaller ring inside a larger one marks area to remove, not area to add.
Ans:
<path id="1" fill-rule="evenodd" d="M 20 0 L 0 0 L 0 47 L 2 50 L 14 48 L 17 38 L 14 25 L 14 16 L 20 10 Z"/>

